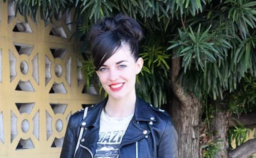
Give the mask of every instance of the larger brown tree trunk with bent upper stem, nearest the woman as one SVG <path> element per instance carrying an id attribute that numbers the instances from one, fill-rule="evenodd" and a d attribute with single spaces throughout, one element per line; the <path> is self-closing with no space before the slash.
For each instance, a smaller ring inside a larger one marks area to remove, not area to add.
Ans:
<path id="1" fill-rule="evenodd" d="M 171 115 L 178 133 L 179 158 L 199 158 L 200 102 L 190 93 L 184 93 L 176 82 L 180 71 L 180 58 L 172 60 L 171 85 L 173 97 Z"/>

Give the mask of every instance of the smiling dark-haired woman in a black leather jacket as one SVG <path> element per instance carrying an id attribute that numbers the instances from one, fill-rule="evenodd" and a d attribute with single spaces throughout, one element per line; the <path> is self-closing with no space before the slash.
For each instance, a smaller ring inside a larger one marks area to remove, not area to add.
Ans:
<path id="1" fill-rule="evenodd" d="M 99 104 L 73 114 L 68 122 L 60 158 L 176 158 L 177 133 L 169 115 L 136 97 L 136 75 L 142 30 L 132 18 L 104 18 L 89 32 L 96 73 L 108 93 Z"/>

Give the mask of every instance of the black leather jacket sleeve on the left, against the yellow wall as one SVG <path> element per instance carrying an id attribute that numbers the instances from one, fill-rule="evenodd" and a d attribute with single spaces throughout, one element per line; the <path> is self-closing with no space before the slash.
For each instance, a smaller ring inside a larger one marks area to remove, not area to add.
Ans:
<path id="1" fill-rule="evenodd" d="M 73 118 L 74 119 L 74 118 Z M 73 158 L 75 153 L 77 136 L 72 128 L 72 116 L 69 118 L 68 126 L 64 136 L 64 142 L 60 153 L 60 158 Z"/>

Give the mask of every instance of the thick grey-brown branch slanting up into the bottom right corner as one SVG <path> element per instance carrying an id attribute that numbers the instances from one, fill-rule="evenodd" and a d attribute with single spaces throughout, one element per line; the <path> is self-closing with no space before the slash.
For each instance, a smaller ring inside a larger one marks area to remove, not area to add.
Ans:
<path id="1" fill-rule="evenodd" d="M 256 152 L 256 138 L 248 140 L 244 144 L 230 152 L 230 158 L 248 158 Z"/>

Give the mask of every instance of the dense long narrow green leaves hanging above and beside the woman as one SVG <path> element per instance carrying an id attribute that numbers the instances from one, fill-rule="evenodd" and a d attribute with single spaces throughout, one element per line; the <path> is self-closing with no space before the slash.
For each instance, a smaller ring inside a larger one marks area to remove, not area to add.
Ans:
<path id="1" fill-rule="evenodd" d="M 41 18 L 46 20 L 75 7 L 74 20 L 79 24 L 79 31 L 83 32 L 87 32 L 91 24 L 105 15 L 117 12 L 129 14 L 145 28 L 146 38 L 142 47 L 145 50 L 142 52 L 154 54 L 169 47 L 165 53 L 167 56 L 182 57 L 181 84 L 198 97 L 208 94 L 215 99 L 222 97 L 223 91 L 236 89 L 245 73 L 256 75 L 256 2 L 252 0 L 15 1 L 16 11 L 25 17 L 33 15 L 34 19 L 38 10 Z M 160 41 L 158 45 L 147 40 L 151 39 L 152 34 L 161 35 L 154 36 L 154 40 Z M 158 72 L 154 69 L 159 68 L 163 69 L 165 75 L 166 72 L 168 74 L 168 59 L 161 58 L 158 53 L 156 55 L 155 60 L 163 65 L 151 66 L 149 61 L 149 70 L 154 74 Z M 161 83 L 141 86 L 145 90 L 160 87 L 158 90 L 163 94 L 166 84 L 161 86 Z M 161 104 L 165 103 L 166 98 L 159 95 L 158 100 Z"/>

